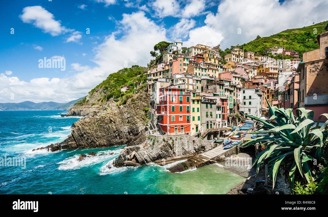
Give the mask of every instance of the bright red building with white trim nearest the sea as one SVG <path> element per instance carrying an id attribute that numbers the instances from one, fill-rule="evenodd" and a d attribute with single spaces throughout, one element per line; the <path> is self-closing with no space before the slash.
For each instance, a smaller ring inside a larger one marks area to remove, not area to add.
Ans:
<path id="1" fill-rule="evenodd" d="M 157 122 L 168 135 L 191 132 L 191 92 L 180 88 L 160 88 Z"/>

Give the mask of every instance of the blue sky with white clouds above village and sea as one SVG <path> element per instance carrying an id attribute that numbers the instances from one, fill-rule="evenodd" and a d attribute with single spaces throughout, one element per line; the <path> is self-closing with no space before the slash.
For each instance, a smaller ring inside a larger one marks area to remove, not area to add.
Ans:
<path id="1" fill-rule="evenodd" d="M 241 45 L 328 19 L 327 0 L 2 0 L 0 103 L 68 102 L 160 41 Z M 62 59 L 62 68 L 40 60 Z M 65 60 L 65 62 L 64 62 Z"/>

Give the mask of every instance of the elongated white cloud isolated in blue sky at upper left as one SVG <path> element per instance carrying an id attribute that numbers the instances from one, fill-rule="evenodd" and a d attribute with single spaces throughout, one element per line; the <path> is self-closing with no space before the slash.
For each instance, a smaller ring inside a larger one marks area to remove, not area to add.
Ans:
<path id="1" fill-rule="evenodd" d="M 19 15 L 19 18 L 24 23 L 30 23 L 34 27 L 42 29 L 44 33 L 49 33 L 52 36 L 70 32 L 71 35 L 66 42 L 82 44 L 79 41 L 82 37 L 81 32 L 62 26 L 60 20 L 55 20 L 54 15 L 41 6 L 25 7 L 23 9 L 23 14 Z"/>

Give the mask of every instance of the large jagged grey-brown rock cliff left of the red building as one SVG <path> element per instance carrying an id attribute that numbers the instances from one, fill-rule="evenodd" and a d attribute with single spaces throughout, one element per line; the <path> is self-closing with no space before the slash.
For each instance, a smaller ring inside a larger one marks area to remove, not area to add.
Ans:
<path id="1" fill-rule="evenodd" d="M 46 148 L 54 152 L 61 149 L 104 148 L 118 145 L 138 145 L 146 140 L 149 131 L 148 107 L 150 95 L 141 93 L 117 106 L 111 99 L 89 115 L 72 125 L 71 135 L 63 142 Z"/>

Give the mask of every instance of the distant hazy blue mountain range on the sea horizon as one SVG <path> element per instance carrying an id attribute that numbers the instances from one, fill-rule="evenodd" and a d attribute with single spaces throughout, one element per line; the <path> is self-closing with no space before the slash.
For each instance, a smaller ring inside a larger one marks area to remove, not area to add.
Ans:
<path id="1" fill-rule="evenodd" d="M 24 110 L 69 110 L 75 102 L 83 99 L 75 99 L 70 102 L 31 102 L 24 101 L 19 103 L 0 103 L 0 111 L 24 111 Z"/>

